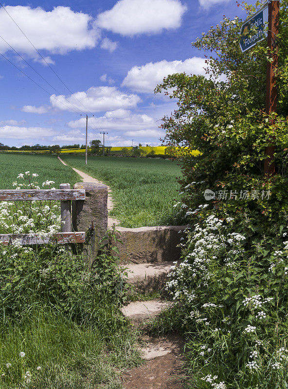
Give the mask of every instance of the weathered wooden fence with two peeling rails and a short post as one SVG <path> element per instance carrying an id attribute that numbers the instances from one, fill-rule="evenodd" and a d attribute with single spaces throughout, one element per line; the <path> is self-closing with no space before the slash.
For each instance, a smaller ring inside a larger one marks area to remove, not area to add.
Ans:
<path id="1" fill-rule="evenodd" d="M 71 231 L 71 201 L 85 200 L 85 189 L 70 189 L 70 184 L 60 184 L 60 189 L 0 190 L 0 201 L 60 200 L 61 232 L 54 235 L 0 234 L 3 245 L 43 245 L 57 243 L 84 243 L 85 232 Z"/>

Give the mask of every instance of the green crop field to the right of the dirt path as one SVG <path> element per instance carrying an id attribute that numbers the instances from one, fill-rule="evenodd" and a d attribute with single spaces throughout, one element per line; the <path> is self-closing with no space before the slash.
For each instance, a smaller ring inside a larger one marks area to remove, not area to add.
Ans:
<path id="1" fill-rule="evenodd" d="M 103 181 L 112 189 L 110 215 L 121 226 L 136 228 L 173 223 L 173 204 L 179 200 L 180 167 L 169 159 L 121 157 L 62 157 L 67 164 Z"/>

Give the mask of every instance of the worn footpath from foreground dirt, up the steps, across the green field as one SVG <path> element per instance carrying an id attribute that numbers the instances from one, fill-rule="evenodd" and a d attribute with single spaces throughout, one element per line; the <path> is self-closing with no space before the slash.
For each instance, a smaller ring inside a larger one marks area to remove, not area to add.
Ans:
<path id="1" fill-rule="evenodd" d="M 67 166 L 60 157 L 58 159 Z M 72 169 L 83 178 L 84 182 L 103 184 L 103 182 L 78 169 Z M 111 193 L 111 189 L 108 187 L 108 211 L 113 209 L 113 202 L 109 193 Z M 114 223 L 118 225 L 120 222 L 108 218 L 108 227 L 111 227 Z M 172 264 L 172 262 L 163 262 L 158 264 L 141 263 L 126 265 L 128 271 L 127 282 L 128 284 L 131 283 L 131 287 L 134 288 L 136 295 L 137 288 L 142 284 L 142 279 L 147 281 L 147 288 L 149 288 L 149 282 L 153 281 L 155 285 L 162 289 L 166 280 L 166 277 L 163 277 L 163 275 L 166 276 L 169 273 Z M 157 266 L 155 267 L 155 265 Z M 161 278 L 160 283 L 157 282 L 158 278 Z M 148 293 L 149 291 L 146 290 L 145 292 Z M 170 334 L 164 337 L 144 335 L 146 322 L 157 317 L 170 304 L 171 302 L 160 298 L 159 300 L 134 301 L 122 307 L 123 315 L 131 321 L 135 328 L 138 327 L 138 330 L 143 333 L 142 347 L 139 347 L 146 360 L 144 365 L 124 372 L 123 384 L 125 389 L 183 388 L 180 378 L 183 363 L 183 342 L 181 337 L 178 334 Z"/>

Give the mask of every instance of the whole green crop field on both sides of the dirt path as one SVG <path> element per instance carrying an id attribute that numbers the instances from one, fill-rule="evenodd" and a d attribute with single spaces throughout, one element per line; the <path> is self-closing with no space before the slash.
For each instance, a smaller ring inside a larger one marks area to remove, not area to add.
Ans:
<path id="1" fill-rule="evenodd" d="M 95 177 L 112 189 L 114 209 L 110 215 L 121 221 L 121 226 L 135 228 L 173 223 L 173 204 L 179 199 L 180 167 L 169 159 L 139 159 L 121 157 L 63 156 L 71 167 Z M 37 173 L 39 186 L 46 180 L 54 186 L 81 178 L 70 166 L 64 166 L 55 156 L 0 154 L 0 188 L 12 189 L 19 173 Z M 18 179 L 18 182 L 23 182 Z"/>

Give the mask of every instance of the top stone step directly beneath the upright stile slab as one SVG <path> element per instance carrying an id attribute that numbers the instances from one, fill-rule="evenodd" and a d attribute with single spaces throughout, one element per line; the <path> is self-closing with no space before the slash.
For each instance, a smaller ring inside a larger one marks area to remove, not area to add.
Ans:
<path id="1" fill-rule="evenodd" d="M 126 281 L 132 285 L 132 291 L 139 293 L 161 290 L 167 282 L 167 274 L 173 265 L 173 261 L 126 265 L 128 273 Z"/>

